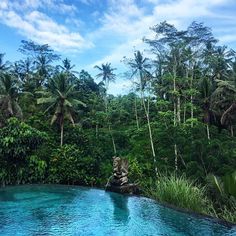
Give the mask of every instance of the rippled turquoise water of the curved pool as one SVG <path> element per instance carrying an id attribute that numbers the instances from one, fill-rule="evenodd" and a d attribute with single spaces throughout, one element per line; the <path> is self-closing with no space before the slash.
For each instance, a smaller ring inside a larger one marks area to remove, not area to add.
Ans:
<path id="1" fill-rule="evenodd" d="M 0 189 L 0 235 L 236 235 L 153 200 L 103 190 L 33 185 Z"/>

